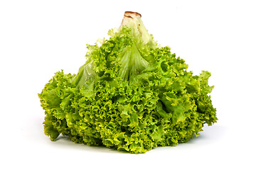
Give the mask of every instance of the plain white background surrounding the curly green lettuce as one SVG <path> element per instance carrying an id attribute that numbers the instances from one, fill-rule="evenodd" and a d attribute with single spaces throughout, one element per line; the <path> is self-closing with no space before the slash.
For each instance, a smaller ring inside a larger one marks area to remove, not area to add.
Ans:
<path id="1" fill-rule="evenodd" d="M 85 45 L 107 38 L 124 11 L 142 13 L 194 74 L 212 73 L 218 123 L 146 154 L 50 142 L 38 93 L 60 69 L 76 74 Z M 1 1 L 0 169 L 256 169 L 255 16 L 253 1 Z"/>

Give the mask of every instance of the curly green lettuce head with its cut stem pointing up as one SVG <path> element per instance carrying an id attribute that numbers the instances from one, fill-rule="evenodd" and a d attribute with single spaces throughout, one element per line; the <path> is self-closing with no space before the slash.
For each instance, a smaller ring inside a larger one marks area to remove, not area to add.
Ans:
<path id="1" fill-rule="evenodd" d="M 187 72 L 184 60 L 153 40 L 139 13 L 125 12 L 109 35 L 87 45 L 78 74 L 57 72 L 38 94 L 50 140 L 62 134 L 137 154 L 187 142 L 216 122 L 210 73 Z"/>

